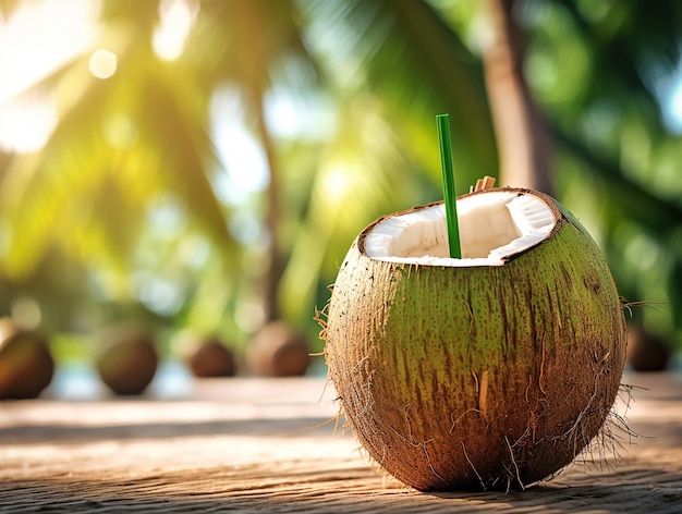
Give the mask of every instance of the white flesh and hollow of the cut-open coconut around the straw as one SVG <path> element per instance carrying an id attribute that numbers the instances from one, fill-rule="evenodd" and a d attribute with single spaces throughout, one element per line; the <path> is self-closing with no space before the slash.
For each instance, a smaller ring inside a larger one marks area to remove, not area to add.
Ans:
<path id="1" fill-rule="evenodd" d="M 539 197 L 519 191 L 491 191 L 458 198 L 462 258 L 450 257 L 443 204 L 391 216 L 365 238 L 366 254 L 378 260 L 425 266 L 501 266 L 539 244 L 557 223 Z"/>

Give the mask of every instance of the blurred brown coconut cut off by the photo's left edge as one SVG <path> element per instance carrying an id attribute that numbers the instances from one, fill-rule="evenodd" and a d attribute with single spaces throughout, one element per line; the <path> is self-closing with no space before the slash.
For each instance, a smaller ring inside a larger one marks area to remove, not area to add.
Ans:
<path id="1" fill-rule="evenodd" d="M 52 381 L 54 359 L 47 340 L 37 332 L 0 320 L 0 400 L 38 396 Z"/>

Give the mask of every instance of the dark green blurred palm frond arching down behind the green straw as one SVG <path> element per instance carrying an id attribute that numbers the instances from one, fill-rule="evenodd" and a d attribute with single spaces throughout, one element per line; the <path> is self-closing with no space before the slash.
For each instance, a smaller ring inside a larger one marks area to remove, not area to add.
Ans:
<path id="1" fill-rule="evenodd" d="M 338 69 L 329 75 L 381 98 L 383 115 L 405 140 L 405 154 L 418 157 L 425 173 L 439 178 L 437 146 L 427 142 L 436 114 L 447 112 L 461 187 L 497 174 L 482 64 L 427 2 L 308 3 L 314 34 L 330 34 L 320 36 L 322 62 Z"/>

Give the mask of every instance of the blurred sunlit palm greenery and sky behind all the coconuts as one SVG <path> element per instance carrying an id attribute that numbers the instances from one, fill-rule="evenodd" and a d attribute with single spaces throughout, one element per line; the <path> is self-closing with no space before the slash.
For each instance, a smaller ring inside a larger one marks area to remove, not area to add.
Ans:
<path id="1" fill-rule="evenodd" d="M 668 357 L 681 39 L 662 0 L 0 0 L 0 316 L 58 377 L 122 322 L 161 364 L 211 339 L 236 372 L 324 375 L 258 368 L 254 338 L 278 321 L 321 351 L 353 238 L 441 199 L 447 112 L 459 193 L 557 197 Z"/>

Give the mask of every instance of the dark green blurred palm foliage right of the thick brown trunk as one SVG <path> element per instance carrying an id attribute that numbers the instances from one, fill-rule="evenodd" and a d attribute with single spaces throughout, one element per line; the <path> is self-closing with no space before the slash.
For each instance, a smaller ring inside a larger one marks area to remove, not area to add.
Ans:
<path id="1" fill-rule="evenodd" d="M 558 0 L 517 14 L 528 60 L 549 78 L 531 83 L 556 142 L 562 200 L 583 206 L 628 299 L 670 306 L 631 309 L 631 321 L 679 344 L 682 184 L 669 170 L 680 135 L 663 124 L 660 85 L 679 66 L 682 10 L 659 7 Z"/>

